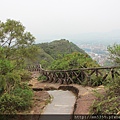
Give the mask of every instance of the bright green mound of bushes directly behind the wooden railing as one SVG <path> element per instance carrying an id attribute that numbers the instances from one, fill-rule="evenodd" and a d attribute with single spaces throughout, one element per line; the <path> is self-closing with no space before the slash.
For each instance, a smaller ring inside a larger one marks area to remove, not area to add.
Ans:
<path id="1" fill-rule="evenodd" d="M 66 54 L 63 57 L 55 60 L 50 66 L 51 70 L 69 70 L 87 67 L 99 66 L 95 61 L 92 60 L 88 54 L 80 52 L 73 52 Z"/>

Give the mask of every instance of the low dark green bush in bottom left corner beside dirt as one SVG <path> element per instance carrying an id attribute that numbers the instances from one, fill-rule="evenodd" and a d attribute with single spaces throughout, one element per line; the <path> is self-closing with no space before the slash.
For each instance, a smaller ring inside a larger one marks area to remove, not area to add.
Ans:
<path id="1" fill-rule="evenodd" d="M 4 93 L 0 97 L 0 113 L 13 114 L 28 109 L 32 105 L 32 96 L 27 84 L 16 86 L 10 94 Z"/>

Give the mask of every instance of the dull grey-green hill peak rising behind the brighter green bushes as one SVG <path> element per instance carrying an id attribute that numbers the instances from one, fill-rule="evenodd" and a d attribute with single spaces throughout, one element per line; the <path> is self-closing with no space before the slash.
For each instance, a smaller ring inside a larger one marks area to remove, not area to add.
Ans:
<path id="1" fill-rule="evenodd" d="M 80 49 L 77 45 L 65 39 L 55 40 L 50 43 L 41 43 L 38 44 L 38 46 L 53 59 L 57 59 L 60 55 L 62 56 L 64 54 L 70 54 L 73 52 L 85 53 L 85 51 Z"/>

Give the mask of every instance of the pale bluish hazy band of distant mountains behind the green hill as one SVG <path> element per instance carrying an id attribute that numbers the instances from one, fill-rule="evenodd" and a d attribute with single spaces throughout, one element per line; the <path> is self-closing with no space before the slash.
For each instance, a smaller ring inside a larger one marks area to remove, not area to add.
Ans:
<path id="1" fill-rule="evenodd" d="M 81 43 L 101 43 L 104 45 L 109 45 L 109 44 L 114 44 L 114 43 L 120 43 L 120 30 L 114 32 L 94 32 L 94 33 L 81 33 L 77 35 L 68 35 L 68 36 L 46 36 L 44 37 L 43 40 L 39 41 L 37 40 L 36 43 L 43 43 L 43 42 L 51 42 L 54 40 L 60 40 L 60 39 L 66 39 L 69 40 L 70 42 L 74 42 L 76 44 Z"/>

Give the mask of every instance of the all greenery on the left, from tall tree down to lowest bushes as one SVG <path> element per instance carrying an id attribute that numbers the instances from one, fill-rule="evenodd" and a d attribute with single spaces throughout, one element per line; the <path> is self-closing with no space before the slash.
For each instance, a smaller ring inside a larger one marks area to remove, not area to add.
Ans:
<path id="1" fill-rule="evenodd" d="M 31 106 L 32 90 L 25 83 L 26 59 L 35 58 L 35 38 L 18 21 L 0 22 L 0 114 L 16 113 Z"/>

